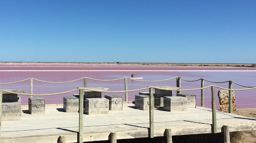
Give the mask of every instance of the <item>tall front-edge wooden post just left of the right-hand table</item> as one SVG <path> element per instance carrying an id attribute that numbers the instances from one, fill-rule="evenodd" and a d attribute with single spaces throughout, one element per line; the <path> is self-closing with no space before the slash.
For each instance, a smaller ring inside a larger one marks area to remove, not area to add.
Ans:
<path id="1" fill-rule="evenodd" d="M 154 138 L 154 91 L 150 88 L 150 137 Z"/>

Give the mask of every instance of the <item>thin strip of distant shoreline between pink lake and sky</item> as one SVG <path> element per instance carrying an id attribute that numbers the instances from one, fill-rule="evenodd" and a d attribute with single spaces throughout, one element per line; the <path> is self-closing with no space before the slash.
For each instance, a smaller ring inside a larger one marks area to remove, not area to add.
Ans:
<path id="1" fill-rule="evenodd" d="M 212 63 L 104 63 L 104 62 L 0 62 L 0 63 L 43 63 L 43 64 L 113 64 L 113 65 L 158 65 L 158 66 L 192 66 L 192 67 L 245 67 L 256 68 L 256 64 L 212 64 Z"/>

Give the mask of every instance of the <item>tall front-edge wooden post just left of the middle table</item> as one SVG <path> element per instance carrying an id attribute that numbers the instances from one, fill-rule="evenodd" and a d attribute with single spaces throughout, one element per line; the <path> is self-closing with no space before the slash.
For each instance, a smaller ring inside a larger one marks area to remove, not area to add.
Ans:
<path id="1" fill-rule="evenodd" d="M 83 90 L 79 90 L 79 138 L 77 142 L 83 142 Z"/>

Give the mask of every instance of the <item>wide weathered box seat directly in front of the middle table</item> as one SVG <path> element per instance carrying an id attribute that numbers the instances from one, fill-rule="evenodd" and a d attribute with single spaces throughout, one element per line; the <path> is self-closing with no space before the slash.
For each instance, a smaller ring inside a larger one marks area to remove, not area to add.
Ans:
<path id="1" fill-rule="evenodd" d="M 88 115 L 109 114 L 109 99 L 86 98 L 84 104 L 84 113 Z"/>

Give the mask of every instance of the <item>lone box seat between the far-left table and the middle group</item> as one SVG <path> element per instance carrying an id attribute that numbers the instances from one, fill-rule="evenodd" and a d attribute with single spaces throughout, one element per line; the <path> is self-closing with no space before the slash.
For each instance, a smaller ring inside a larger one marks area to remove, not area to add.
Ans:
<path id="1" fill-rule="evenodd" d="M 45 113 L 45 99 L 41 97 L 29 98 L 29 112 L 31 114 L 44 114 Z"/>

